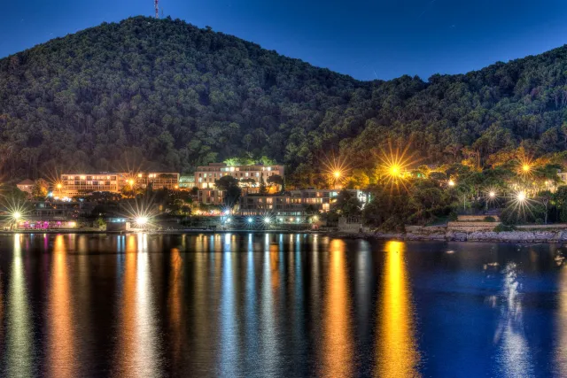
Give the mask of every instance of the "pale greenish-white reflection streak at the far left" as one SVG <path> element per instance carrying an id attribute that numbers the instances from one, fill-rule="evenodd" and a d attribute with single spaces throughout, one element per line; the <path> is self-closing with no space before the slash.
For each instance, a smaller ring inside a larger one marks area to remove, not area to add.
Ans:
<path id="1" fill-rule="evenodd" d="M 21 258 L 19 234 L 14 235 L 12 275 L 7 312 L 8 376 L 32 376 L 32 324 L 27 303 L 26 277 Z"/>

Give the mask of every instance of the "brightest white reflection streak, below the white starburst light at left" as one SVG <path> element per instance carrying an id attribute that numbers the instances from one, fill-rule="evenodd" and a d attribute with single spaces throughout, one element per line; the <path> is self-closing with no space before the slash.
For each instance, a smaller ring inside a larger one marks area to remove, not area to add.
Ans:
<path id="1" fill-rule="evenodd" d="M 155 334 L 156 317 L 153 313 L 151 297 L 150 263 L 148 255 L 148 235 L 138 234 L 138 253 L 136 264 L 136 374 L 138 376 L 157 376 L 156 357 L 159 343 Z"/>

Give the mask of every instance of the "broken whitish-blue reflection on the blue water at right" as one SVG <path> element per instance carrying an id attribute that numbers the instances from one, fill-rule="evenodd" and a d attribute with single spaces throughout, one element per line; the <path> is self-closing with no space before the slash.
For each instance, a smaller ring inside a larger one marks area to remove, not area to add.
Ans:
<path id="1" fill-rule="evenodd" d="M 501 373 L 509 377 L 532 376 L 531 352 L 524 336 L 522 301 L 518 292 L 517 265 L 509 263 L 502 273 L 501 320 L 494 334 L 494 343 L 500 343 L 498 362 Z"/>

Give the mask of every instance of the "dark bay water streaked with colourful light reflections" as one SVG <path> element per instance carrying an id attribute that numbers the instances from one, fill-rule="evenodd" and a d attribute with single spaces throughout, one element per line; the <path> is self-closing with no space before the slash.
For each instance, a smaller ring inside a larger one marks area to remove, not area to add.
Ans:
<path id="1" fill-rule="evenodd" d="M 567 376 L 567 248 L 0 236 L 0 376 Z"/>

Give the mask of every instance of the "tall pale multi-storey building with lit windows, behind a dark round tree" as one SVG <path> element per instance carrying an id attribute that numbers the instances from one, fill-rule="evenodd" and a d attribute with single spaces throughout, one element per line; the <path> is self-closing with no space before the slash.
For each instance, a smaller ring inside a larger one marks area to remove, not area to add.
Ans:
<path id="1" fill-rule="evenodd" d="M 197 167 L 195 184 L 198 189 L 214 189 L 214 181 L 229 175 L 242 181 L 241 186 L 245 188 L 258 188 L 262 179 L 266 182 L 268 177 L 276 174 L 283 177 L 283 166 L 227 166 L 224 163 L 210 163 L 208 166 Z"/>

